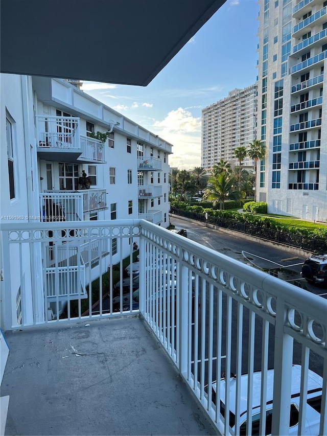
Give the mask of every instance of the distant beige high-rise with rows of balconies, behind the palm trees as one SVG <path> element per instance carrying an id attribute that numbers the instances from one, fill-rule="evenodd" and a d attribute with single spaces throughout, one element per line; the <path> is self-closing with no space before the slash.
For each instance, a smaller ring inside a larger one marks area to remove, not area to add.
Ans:
<path id="1" fill-rule="evenodd" d="M 228 97 L 202 109 L 201 165 L 210 170 L 220 159 L 237 163 L 234 150 L 256 137 L 258 85 L 229 91 Z M 245 159 L 244 165 L 253 165 Z"/>

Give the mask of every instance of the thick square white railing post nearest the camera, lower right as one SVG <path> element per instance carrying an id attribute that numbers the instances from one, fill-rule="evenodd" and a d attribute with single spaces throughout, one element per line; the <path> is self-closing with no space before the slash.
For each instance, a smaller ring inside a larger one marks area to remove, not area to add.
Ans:
<path id="1" fill-rule="evenodd" d="M 284 332 L 287 308 L 276 300 L 272 434 L 288 434 L 290 426 L 293 338 Z"/>

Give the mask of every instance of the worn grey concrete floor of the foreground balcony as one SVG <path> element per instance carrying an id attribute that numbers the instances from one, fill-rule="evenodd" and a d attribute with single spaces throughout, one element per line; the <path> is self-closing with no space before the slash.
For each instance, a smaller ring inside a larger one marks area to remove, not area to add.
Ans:
<path id="1" fill-rule="evenodd" d="M 138 316 L 5 336 L 5 434 L 216 434 Z"/>

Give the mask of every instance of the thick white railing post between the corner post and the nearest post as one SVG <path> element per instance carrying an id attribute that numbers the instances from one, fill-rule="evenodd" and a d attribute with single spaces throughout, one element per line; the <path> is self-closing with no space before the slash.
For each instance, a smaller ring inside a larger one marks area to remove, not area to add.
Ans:
<path id="1" fill-rule="evenodd" d="M 188 319 L 189 319 L 189 273 L 188 268 L 179 263 L 179 371 L 186 374 L 188 371 Z M 191 281 L 192 286 L 192 281 Z M 191 290 L 192 292 L 192 290 Z"/>

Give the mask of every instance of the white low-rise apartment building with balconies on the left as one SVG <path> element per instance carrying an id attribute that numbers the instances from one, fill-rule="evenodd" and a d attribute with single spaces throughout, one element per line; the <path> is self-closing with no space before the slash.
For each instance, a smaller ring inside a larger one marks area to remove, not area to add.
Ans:
<path id="1" fill-rule="evenodd" d="M 78 228 L 85 220 L 143 218 L 168 227 L 170 143 L 62 79 L 3 74 L 1 94 L 1 222 L 72 221 Z M 27 313 L 33 305 L 44 313 L 45 305 L 49 319 L 67 297 L 86 297 L 90 280 L 135 242 L 71 239 L 13 254 L 26 260 L 21 274 L 11 271 L 17 319 L 21 295 Z"/>

